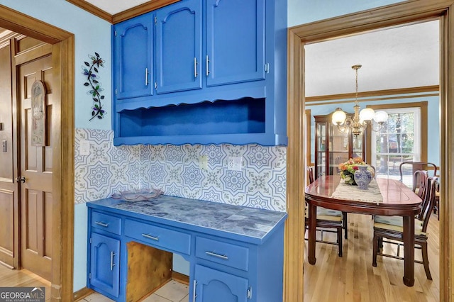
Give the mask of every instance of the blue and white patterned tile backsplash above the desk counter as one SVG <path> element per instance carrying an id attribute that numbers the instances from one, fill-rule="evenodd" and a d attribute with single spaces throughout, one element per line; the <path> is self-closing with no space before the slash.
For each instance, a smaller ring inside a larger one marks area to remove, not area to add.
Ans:
<path id="1" fill-rule="evenodd" d="M 89 155 L 80 155 L 80 142 Z M 76 129 L 75 202 L 107 198 L 116 191 L 161 189 L 164 194 L 238 206 L 285 211 L 286 147 L 261 145 L 114 146 L 111 130 Z M 207 169 L 199 168 L 205 155 Z M 242 157 L 241 171 L 228 157 Z"/>

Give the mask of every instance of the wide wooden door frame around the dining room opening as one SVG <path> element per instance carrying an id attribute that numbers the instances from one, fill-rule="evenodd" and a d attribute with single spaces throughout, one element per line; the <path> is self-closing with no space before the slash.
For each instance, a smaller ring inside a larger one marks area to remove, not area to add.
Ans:
<path id="1" fill-rule="evenodd" d="M 304 297 L 304 186 L 305 173 L 305 115 L 304 115 L 304 44 L 343 35 L 351 35 L 366 30 L 377 30 L 389 26 L 401 26 L 404 23 L 418 22 L 431 18 L 441 20 L 441 175 L 443 186 L 441 200 L 440 242 L 440 299 L 452 301 L 451 290 L 454 286 L 454 272 L 451 267 L 451 256 L 454 255 L 453 231 L 454 206 L 448 203 L 453 187 L 453 177 L 448 171 L 454 169 L 454 139 L 448 134 L 454 129 L 452 119 L 454 107 L 449 100 L 454 93 L 454 46 L 451 41 L 454 33 L 454 18 L 449 17 L 453 11 L 452 0 L 438 1 L 405 1 L 399 4 L 384 6 L 378 9 L 352 13 L 345 16 L 309 23 L 289 28 L 289 67 L 288 67 L 288 135 L 287 150 L 287 218 L 285 236 L 285 282 L 284 300 L 303 301 Z"/>

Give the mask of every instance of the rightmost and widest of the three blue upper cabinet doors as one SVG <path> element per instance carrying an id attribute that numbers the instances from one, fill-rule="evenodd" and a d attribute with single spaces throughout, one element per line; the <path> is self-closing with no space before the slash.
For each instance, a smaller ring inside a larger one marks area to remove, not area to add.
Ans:
<path id="1" fill-rule="evenodd" d="M 265 79 L 265 0 L 206 0 L 206 85 Z"/>

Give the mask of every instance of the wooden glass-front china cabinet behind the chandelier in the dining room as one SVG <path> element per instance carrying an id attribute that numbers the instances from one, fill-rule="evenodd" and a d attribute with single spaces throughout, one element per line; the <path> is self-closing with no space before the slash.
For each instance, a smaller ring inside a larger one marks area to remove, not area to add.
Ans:
<path id="1" fill-rule="evenodd" d="M 366 136 L 353 135 L 348 129 L 342 133 L 331 123 L 331 114 L 314 116 L 315 118 L 315 174 L 314 178 L 323 175 L 338 175 L 339 164 L 349 158 L 365 158 Z"/>

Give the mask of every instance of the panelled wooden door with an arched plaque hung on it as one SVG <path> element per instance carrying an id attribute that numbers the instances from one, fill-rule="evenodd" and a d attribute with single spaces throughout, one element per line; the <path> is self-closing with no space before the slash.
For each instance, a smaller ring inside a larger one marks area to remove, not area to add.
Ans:
<path id="1" fill-rule="evenodd" d="M 45 84 L 45 145 L 32 142 L 32 85 Z M 21 186 L 21 267 L 51 279 L 52 267 L 52 56 L 18 67 Z M 57 239 L 56 239 L 57 240 Z"/>

